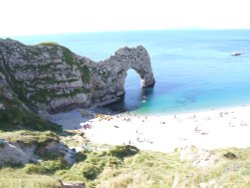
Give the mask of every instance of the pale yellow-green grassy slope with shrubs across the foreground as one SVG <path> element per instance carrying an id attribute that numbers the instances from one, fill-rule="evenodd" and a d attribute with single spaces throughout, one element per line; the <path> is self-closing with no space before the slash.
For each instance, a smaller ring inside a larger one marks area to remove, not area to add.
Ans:
<path id="1" fill-rule="evenodd" d="M 2 133 L 8 138 L 9 134 Z M 13 134 L 18 138 L 16 135 Z M 229 151 L 236 158 L 225 157 Z M 39 164 L 18 168 L 5 166 L 0 169 L 0 187 L 58 187 L 58 178 L 102 188 L 167 188 L 173 184 L 176 187 L 250 187 L 250 148 L 214 150 L 219 162 L 203 169 L 180 160 L 179 150 L 168 154 L 137 152 L 133 147 L 111 147 L 108 151 L 79 152 L 72 166 L 60 158 L 43 159 Z"/>

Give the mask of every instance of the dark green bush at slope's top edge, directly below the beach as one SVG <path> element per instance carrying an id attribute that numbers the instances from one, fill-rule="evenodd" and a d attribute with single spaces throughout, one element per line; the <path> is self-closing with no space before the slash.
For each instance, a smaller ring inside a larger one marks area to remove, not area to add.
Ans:
<path id="1" fill-rule="evenodd" d="M 118 157 L 123 159 L 124 157 L 129 157 L 135 155 L 139 152 L 139 149 L 135 146 L 115 146 L 113 149 L 109 151 L 109 154 L 114 157 Z"/>

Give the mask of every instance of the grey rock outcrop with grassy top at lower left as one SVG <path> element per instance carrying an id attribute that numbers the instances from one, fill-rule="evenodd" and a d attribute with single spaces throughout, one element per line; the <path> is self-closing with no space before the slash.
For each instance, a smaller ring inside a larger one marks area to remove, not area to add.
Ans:
<path id="1" fill-rule="evenodd" d="M 73 164 L 75 152 L 54 135 L 51 132 L 19 131 L 9 132 L 6 138 L 2 136 L 3 138 L 0 139 L 0 166 L 6 163 L 38 162 L 45 155 L 61 156 L 68 164 Z"/>

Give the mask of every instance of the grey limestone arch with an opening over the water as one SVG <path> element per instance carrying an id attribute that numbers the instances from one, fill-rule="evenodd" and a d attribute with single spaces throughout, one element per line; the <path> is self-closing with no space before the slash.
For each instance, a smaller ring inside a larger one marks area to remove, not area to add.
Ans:
<path id="1" fill-rule="evenodd" d="M 124 84 L 129 69 L 139 75 L 142 88 L 153 87 L 155 84 L 150 57 L 142 46 L 121 48 L 96 65 L 99 77 L 94 78 L 93 85 L 96 89 L 92 95 L 92 103 L 98 103 L 98 106 L 117 102 L 124 97 Z"/>

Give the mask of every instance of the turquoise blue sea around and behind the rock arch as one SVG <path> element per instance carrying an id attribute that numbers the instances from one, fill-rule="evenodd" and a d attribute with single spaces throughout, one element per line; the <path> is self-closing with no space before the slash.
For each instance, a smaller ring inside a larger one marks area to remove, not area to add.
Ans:
<path id="1" fill-rule="evenodd" d="M 124 101 L 107 108 L 178 113 L 250 104 L 250 30 L 169 30 L 13 37 L 25 44 L 53 41 L 99 61 L 118 48 L 143 45 L 156 84 L 140 88 L 130 70 Z M 240 51 L 241 56 L 231 56 Z"/>

